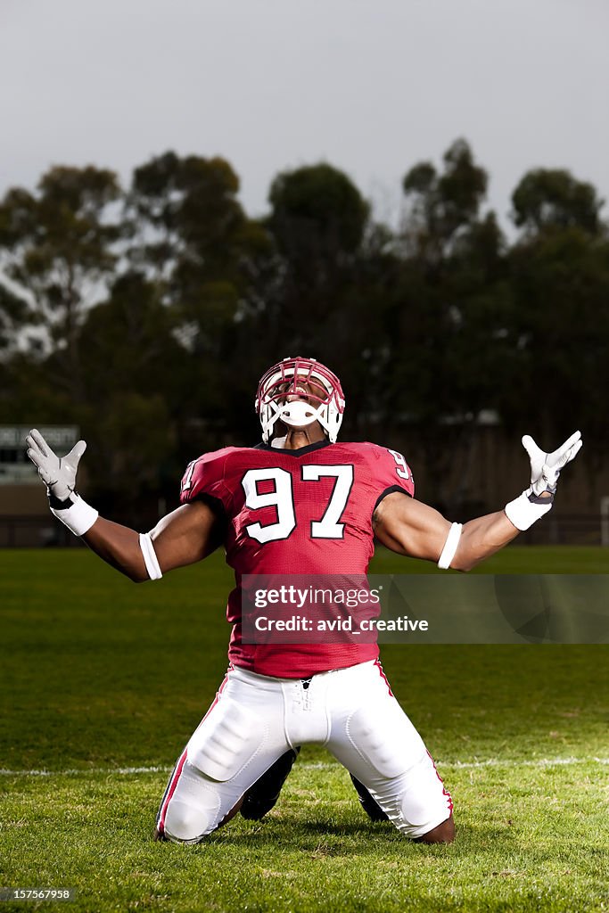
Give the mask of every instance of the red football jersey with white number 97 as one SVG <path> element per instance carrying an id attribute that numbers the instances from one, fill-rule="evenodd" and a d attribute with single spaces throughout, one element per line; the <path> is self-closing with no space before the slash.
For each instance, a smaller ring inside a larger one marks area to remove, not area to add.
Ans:
<path id="1" fill-rule="evenodd" d="M 181 503 L 201 498 L 226 521 L 226 562 L 236 577 L 226 609 L 231 662 L 303 678 L 378 656 L 376 644 L 243 643 L 240 584 L 242 574 L 364 575 L 374 551 L 373 512 L 392 491 L 415 493 L 404 456 L 368 443 L 225 447 L 189 464 Z"/>

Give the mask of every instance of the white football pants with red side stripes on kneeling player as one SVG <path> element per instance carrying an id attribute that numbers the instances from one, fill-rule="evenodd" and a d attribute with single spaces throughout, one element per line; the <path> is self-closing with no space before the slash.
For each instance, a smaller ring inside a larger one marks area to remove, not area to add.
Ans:
<path id="1" fill-rule="evenodd" d="M 197 843 L 280 755 L 310 742 L 330 750 L 406 836 L 449 817 L 450 794 L 378 659 L 304 680 L 231 666 L 175 765 L 159 832 Z"/>

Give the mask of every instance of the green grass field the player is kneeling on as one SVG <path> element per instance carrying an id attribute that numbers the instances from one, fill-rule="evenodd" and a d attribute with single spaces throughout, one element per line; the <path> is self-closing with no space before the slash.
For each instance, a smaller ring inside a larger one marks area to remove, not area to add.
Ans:
<path id="1" fill-rule="evenodd" d="M 374 570 L 424 567 L 382 553 Z M 510 547 L 479 570 L 606 573 L 609 555 Z M 134 586 L 86 550 L 0 551 L 0 572 L 0 886 L 74 887 L 68 909 L 91 913 L 609 910 L 609 645 L 383 647 L 453 794 L 454 845 L 371 824 L 316 747 L 263 822 L 155 844 L 226 669 L 230 573 L 214 556 Z"/>

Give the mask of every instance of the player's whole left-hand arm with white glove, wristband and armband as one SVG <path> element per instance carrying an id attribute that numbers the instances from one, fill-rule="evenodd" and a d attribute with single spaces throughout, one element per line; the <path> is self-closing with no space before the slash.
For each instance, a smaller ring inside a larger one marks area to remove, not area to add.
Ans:
<path id="1" fill-rule="evenodd" d="M 100 517 L 77 494 L 76 473 L 85 452 L 84 441 L 58 457 L 35 429 L 27 436 L 27 456 L 47 485 L 51 511 L 92 551 L 134 582 L 160 577 L 173 568 L 200 561 L 221 541 L 221 523 L 204 501 L 183 504 L 147 535 Z M 145 557 L 147 552 L 147 558 Z M 152 556 L 152 558 L 151 558 Z M 156 571 L 151 568 L 155 568 Z"/>

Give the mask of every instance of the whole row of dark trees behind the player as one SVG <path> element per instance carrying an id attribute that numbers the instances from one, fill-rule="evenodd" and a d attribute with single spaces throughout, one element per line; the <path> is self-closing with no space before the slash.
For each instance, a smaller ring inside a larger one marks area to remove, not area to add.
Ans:
<path id="1" fill-rule="evenodd" d="M 383 225 L 328 163 L 279 173 L 251 218 L 222 158 L 175 152 L 128 187 L 57 166 L 0 201 L 0 424 L 77 424 L 91 486 L 175 498 L 185 463 L 259 438 L 257 379 L 287 355 L 341 376 L 345 439 L 467 459 L 479 416 L 558 443 L 609 430 L 609 230 L 569 171 L 526 173 L 514 233 L 464 140 L 405 173 Z M 458 508 L 458 489 L 436 501 Z"/>

